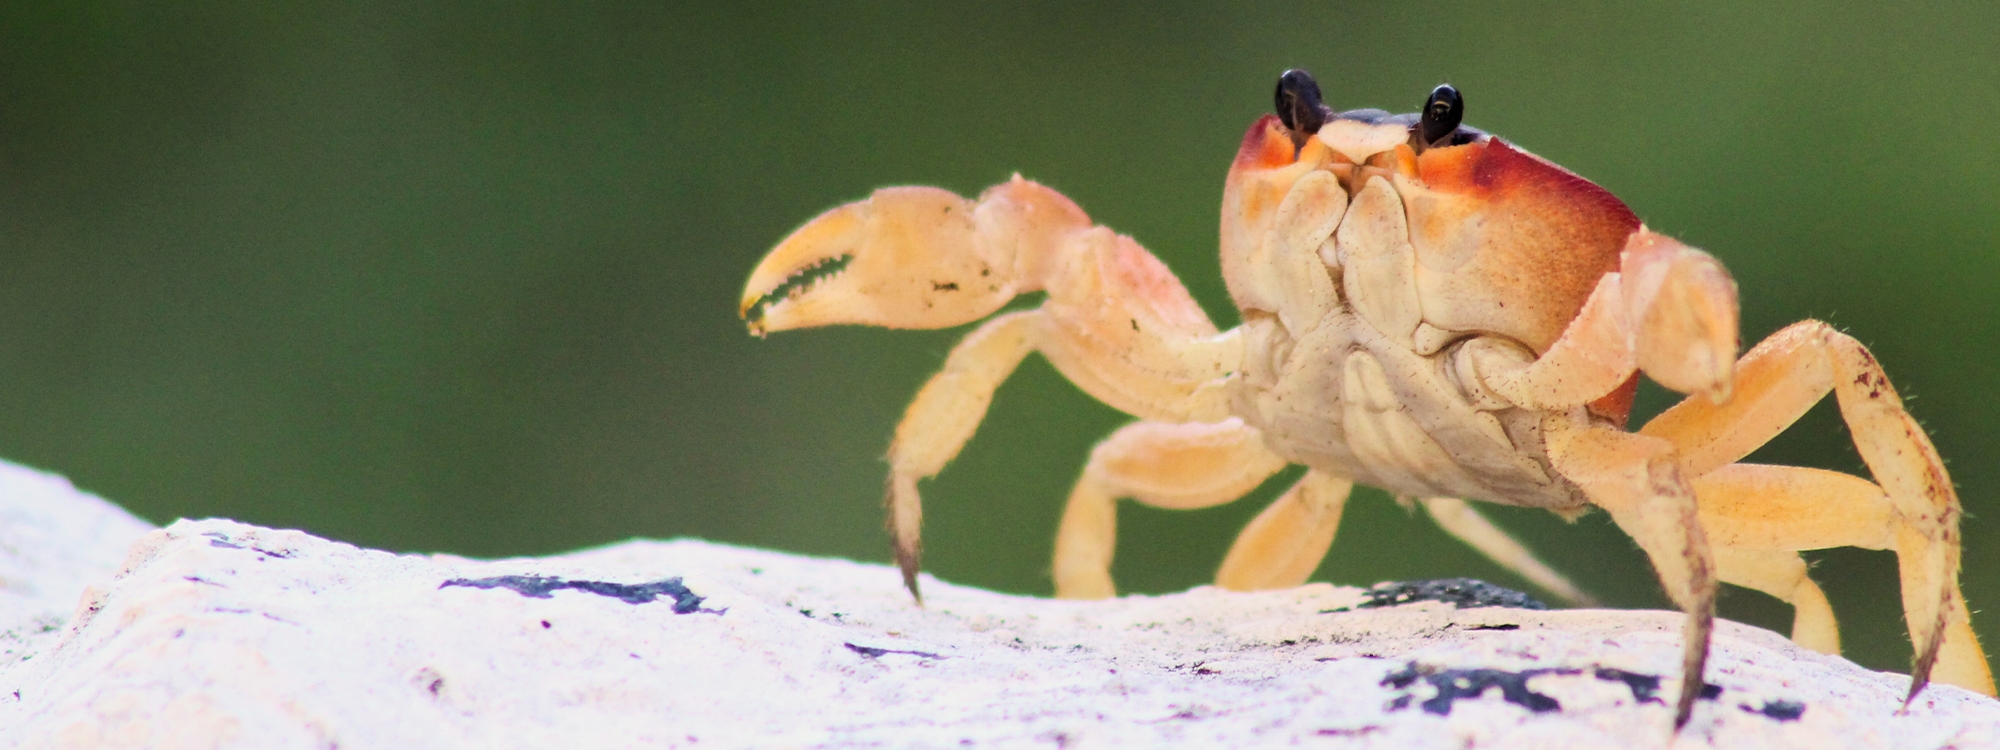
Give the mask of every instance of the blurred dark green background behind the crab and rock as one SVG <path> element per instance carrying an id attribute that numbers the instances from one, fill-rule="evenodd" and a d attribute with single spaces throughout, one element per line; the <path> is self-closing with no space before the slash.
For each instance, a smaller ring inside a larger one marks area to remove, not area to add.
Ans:
<path id="1" fill-rule="evenodd" d="M 1234 324 L 1222 174 L 1304 66 L 1336 108 L 1460 86 L 1470 124 L 1720 256 L 1748 342 L 1818 316 L 1874 346 L 1962 486 L 1966 592 L 2000 606 L 1996 50 L 1990 2 L 12 2 L 0 456 L 154 522 L 390 550 L 886 560 L 880 456 L 962 330 L 754 340 L 750 266 L 872 188 L 1020 170 Z M 1122 422 L 1032 358 L 926 484 L 930 570 L 1048 592 L 1060 502 Z M 1756 458 L 1864 470 L 1826 406 Z M 1204 582 L 1294 474 L 1126 506 L 1118 580 Z M 1666 606 L 1602 514 L 1490 514 L 1608 602 Z M 1906 668 L 1894 558 L 1810 556 L 1848 654 Z M 1442 576 L 1522 586 L 1366 490 L 1318 580 Z M 1790 626 L 1762 594 L 1722 610 Z"/>

